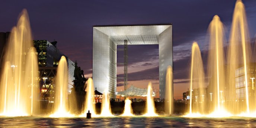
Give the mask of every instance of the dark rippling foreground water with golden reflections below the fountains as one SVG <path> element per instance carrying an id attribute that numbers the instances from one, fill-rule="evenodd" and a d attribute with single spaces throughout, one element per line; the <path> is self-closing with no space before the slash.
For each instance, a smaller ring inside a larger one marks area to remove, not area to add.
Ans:
<path id="1" fill-rule="evenodd" d="M 183 118 L 183 117 L 113 117 L 113 118 L 0 118 L 0 128 L 171 128 L 171 127 L 256 127 L 256 118 Z"/>

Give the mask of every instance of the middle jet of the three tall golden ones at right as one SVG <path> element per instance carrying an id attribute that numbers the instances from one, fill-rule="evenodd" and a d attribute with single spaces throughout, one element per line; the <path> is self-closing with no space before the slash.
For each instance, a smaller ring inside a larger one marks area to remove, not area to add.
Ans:
<path id="1" fill-rule="evenodd" d="M 209 54 L 208 54 L 208 77 L 209 86 L 208 92 L 211 94 L 208 105 L 210 112 L 223 115 L 224 111 L 224 96 L 221 96 L 221 91 L 225 89 L 225 59 L 224 59 L 224 28 L 220 17 L 215 15 L 209 25 Z M 221 112 L 222 111 L 222 112 Z M 217 116 L 217 115 L 216 115 Z"/>

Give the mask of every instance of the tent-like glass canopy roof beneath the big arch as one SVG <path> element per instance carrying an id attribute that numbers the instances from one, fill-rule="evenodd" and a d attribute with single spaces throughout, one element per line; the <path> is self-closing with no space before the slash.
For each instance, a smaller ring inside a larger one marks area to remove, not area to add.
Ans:
<path id="1" fill-rule="evenodd" d="M 121 91 L 121 92 L 116 92 L 116 95 L 121 95 L 121 96 L 147 96 L 147 89 L 141 89 L 135 86 L 130 86 L 127 90 Z M 153 92 L 152 96 L 156 96 L 155 93 Z"/>

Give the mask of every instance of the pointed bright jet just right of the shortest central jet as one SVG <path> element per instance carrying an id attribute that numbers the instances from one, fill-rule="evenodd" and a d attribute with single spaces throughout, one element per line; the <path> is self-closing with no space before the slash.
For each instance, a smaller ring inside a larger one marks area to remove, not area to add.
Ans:
<path id="1" fill-rule="evenodd" d="M 144 116 L 158 116 L 156 114 L 156 108 L 155 108 L 155 103 L 154 103 L 152 94 L 153 94 L 152 84 L 151 82 L 149 82 Z"/>

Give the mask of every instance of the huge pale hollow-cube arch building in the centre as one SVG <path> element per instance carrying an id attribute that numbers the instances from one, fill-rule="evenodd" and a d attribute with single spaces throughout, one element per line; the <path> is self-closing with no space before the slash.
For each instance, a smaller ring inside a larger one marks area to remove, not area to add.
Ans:
<path id="1" fill-rule="evenodd" d="M 164 98 L 167 66 L 173 66 L 172 24 L 93 26 L 93 82 L 99 92 L 116 92 L 116 46 L 159 45 L 159 90 Z M 128 51 L 129 52 L 129 51 Z M 129 77 L 128 77 L 129 80 Z"/>

